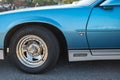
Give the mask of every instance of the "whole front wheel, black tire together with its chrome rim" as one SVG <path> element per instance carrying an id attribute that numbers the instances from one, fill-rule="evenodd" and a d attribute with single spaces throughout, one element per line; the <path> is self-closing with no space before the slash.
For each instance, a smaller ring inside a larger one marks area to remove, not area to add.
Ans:
<path id="1" fill-rule="evenodd" d="M 16 67 L 36 74 L 46 72 L 56 65 L 60 47 L 50 30 L 39 25 L 29 25 L 13 34 L 9 52 L 10 59 Z"/>

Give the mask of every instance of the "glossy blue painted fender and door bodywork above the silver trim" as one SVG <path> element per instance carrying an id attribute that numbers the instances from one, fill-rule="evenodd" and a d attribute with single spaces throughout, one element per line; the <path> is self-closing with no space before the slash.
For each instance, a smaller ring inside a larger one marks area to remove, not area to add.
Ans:
<path id="1" fill-rule="evenodd" d="M 120 48 L 117 44 L 120 41 L 120 7 L 104 10 L 96 7 L 103 0 L 93 1 L 89 5 L 79 2 L 0 13 L 0 48 L 3 48 L 5 36 L 13 27 L 29 22 L 47 23 L 58 28 L 65 36 L 68 49 Z"/>

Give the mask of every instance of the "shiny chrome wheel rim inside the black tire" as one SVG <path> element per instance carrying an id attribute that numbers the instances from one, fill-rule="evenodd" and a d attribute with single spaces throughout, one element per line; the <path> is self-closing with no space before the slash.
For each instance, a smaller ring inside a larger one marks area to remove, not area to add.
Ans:
<path id="1" fill-rule="evenodd" d="M 27 67 L 39 67 L 47 60 L 48 48 L 36 35 L 27 35 L 18 41 L 16 53 L 19 61 Z"/>

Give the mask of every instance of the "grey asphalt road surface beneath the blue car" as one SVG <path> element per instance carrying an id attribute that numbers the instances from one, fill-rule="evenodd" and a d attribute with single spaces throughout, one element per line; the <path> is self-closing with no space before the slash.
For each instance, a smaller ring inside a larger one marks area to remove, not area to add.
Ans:
<path id="1" fill-rule="evenodd" d="M 88 61 L 69 63 L 60 60 L 44 74 L 27 74 L 0 61 L 0 80 L 120 80 L 120 61 Z"/>

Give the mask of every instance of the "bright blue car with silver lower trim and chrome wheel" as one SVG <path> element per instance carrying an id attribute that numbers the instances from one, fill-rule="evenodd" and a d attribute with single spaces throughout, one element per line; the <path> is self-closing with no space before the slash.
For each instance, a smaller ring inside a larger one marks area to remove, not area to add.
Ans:
<path id="1" fill-rule="evenodd" d="M 42 73 L 59 56 L 71 61 L 120 59 L 120 0 L 0 13 L 0 59 L 9 56 L 28 73 Z"/>

